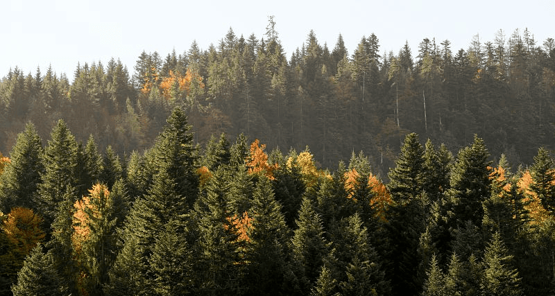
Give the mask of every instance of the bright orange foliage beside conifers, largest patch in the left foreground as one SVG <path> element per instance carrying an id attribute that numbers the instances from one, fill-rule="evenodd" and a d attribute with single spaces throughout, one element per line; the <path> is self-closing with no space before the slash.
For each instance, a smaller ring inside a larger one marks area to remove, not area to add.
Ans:
<path id="1" fill-rule="evenodd" d="M 101 213 L 95 204 L 108 204 L 110 202 L 110 192 L 108 187 L 103 184 L 94 184 L 92 189 L 89 189 L 89 193 L 74 204 L 76 212 L 73 216 L 74 234 L 71 236 L 71 240 L 78 252 L 81 249 L 81 243 L 88 241 L 90 236 L 90 211 L 87 213 L 87 210 L 92 210 L 94 218 L 100 218 Z"/>

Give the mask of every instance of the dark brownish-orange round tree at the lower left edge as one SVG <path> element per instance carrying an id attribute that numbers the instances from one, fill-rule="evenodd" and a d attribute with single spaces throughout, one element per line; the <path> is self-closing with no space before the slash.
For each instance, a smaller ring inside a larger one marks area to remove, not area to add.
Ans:
<path id="1" fill-rule="evenodd" d="M 26 256 L 44 238 L 44 232 L 40 229 L 41 223 L 42 218 L 32 209 L 15 207 L 3 221 L 2 228 L 8 241 L 15 246 L 15 250 Z"/>

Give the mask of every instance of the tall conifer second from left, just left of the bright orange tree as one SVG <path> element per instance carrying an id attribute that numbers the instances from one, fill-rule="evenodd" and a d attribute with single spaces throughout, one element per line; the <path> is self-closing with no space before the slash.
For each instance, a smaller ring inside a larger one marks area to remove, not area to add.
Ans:
<path id="1" fill-rule="evenodd" d="M 69 132 L 66 123 L 60 119 L 51 133 L 51 140 L 44 153 L 44 173 L 40 175 L 42 182 L 38 184 L 38 192 L 34 197 L 39 214 L 44 218 L 46 227 L 54 220 L 56 207 L 65 195 L 77 187 L 77 143 Z M 73 204 L 75 200 L 69 200 Z"/>

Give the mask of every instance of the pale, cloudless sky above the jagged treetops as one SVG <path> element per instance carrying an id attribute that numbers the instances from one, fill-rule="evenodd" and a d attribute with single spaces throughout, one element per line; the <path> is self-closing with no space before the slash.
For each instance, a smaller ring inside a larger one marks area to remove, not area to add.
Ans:
<path id="1" fill-rule="evenodd" d="M 108 63 L 120 59 L 130 75 L 142 51 L 164 58 L 173 49 L 188 51 L 193 40 L 200 49 L 217 46 L 231 27 L 239 37 L 264 37 L 268 16 L 274 15 L 287 58 L 314 30 L 320 44 L 334 48 L 343 35 L 349 55 L 361 37 L 371 33 L 380 51 L 397 54 L 405 41 L 413 57 L 423 38 L 448 39 L 452 51 L 468 49 L 472 36 L 494 40 L 502 29 L 507 40 L 524 28 L 538 46 L 555 38 L 555 1 L 119 1 L 4 0 L 0 3 L 0 78 L 16 66 L 42 75 L 49 64 L 58 76 L 73 80 L 77 63 Z"/>

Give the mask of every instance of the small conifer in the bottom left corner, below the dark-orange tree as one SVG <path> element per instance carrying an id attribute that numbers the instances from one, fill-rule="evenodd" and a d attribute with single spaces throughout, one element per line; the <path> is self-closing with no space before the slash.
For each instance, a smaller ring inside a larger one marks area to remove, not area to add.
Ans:
<path id="1" fill-rule="evenodd" d="M 52 254 L 44 254 L 37 245 L 27 257 L 17 274 L 17 284 L 12 286 L 13 295 L 70 295 L 62 284 L 53 263 Z"/>

